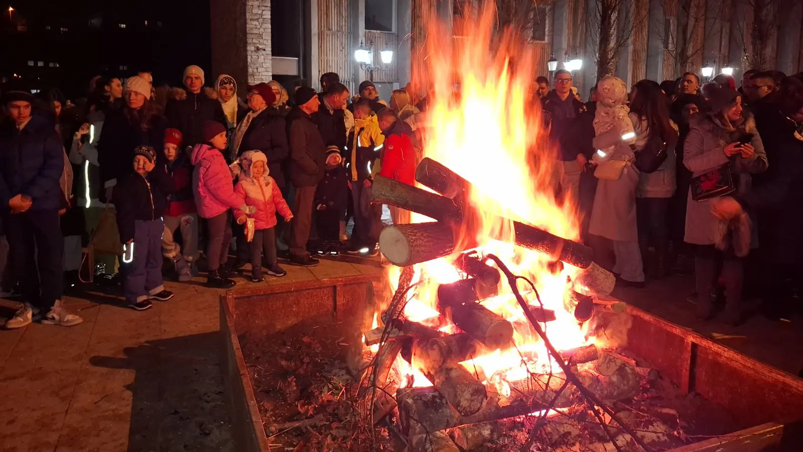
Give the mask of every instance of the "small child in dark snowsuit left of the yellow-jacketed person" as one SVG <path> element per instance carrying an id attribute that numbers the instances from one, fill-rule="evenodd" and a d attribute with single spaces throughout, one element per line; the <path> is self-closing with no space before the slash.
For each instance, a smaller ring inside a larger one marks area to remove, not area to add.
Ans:
<path id="1" fill-rule="evenodd" d="M 349 199 L 349 178 L 337 146 L 326 148 L 326 172 L 315 191 L 315 224 L 318 253 L 340 253 L 340 219 Z"/>

